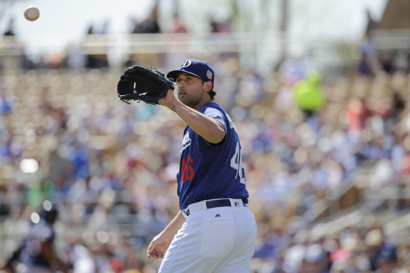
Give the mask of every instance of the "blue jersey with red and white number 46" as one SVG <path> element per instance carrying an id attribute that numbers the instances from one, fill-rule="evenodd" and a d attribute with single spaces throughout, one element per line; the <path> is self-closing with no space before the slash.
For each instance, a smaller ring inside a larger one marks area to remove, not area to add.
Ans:
<path id="1" fill-rule="evenodd" d="M 216 198 L 242 199 L 247 203 L 242 147 L 231 118 L 214 102 L 198 111 L 220 122 L 225 128 L 225 138 L 212 144 L 189 126 L 185 128 L 177 175 L 180 209 Z"/>

